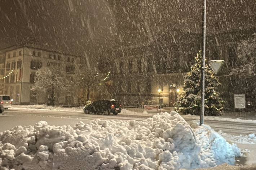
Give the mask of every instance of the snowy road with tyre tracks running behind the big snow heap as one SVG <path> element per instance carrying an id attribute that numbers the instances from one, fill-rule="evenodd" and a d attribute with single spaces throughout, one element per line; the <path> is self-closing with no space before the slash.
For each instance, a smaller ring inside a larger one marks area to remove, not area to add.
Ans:
<path id="1" fill-rule="evenodd" d="M 154 114 L 127 114 L 126 112 L 122 112 L 121 114 L 114 116 L 114 115 L 86 115 L 83 113 L 81 110 L 77 111 L 60 111 L 60 110 L 27 110 L 27 109 L 11 109 L 11 110 L 6 110 L 4 112 L 4 115 L 6 116 L 13 116 L 15 119 L 17 116 L 19 117 L 20 121 L 17 121 L 16 125 L 20 125 L 19 122 L 23 121 L 22 116 L 24 115 L 24 119 L 28 119 L 28 116 L 33 116 L 33 118 L 36 117 L 44 117 L 44 118 L 52 118 L 57 119 L 57 118 L 72 118 L 74 121 L 90 121 L 94 119 L 104 119 L 104 120 L 144 120 L 147 118 L 150 118 Z M 32 120 L 33 120 L 32 118 Z M 199 118 L 199 117 L 198 117 Z M 184 116 L 184 119 L 189 122 L 191 120 L 198 119 L 197 117 L 192 117 L 192 116 Z M 39 118 L 34 118 L 38 119 Z M 1 119 L 3 120 L 3 119 Z M 1 122 L 0 120 L 0 122 Z M 15 119 L 17 120 L 17 119 Z M 65 121 L 63 121 L 64 123 Z M 13 122 L 14 123 L 14 122 Z M 222 130 L 222 132 L 232 134 L 232 135 L 247 135 L 251 133 L 256 134 L 256 124 L 255 123 L 241 123 L 241 122 L 233 122 L 233 121 L 220 121 L 220 120 L 205 120 L 205 124 L 210 125 L 213 129 L 216 131 Z"/>

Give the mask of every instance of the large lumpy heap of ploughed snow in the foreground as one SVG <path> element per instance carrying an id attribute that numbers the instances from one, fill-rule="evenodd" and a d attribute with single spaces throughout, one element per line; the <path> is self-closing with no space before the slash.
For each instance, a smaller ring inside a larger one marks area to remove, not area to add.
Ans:
<path id="1" fill-rule="evenodd" d="M 145 121 L 94 120 L 73 128 L 40 121 L 0 133 L 3 170 L 177 170 L 234 164 L 240 150 L 176 112 Z"/>

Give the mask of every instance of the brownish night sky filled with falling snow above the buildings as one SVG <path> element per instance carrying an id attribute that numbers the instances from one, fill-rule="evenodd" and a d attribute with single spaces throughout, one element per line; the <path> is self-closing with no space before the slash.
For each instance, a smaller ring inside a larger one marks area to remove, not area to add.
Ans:
<path id="1" fill-rule="evenodd" d="M 32 43 L 92 57 L 171 34 L 201 31 L 200 0 L 0 0 L 0 49 Z M 255 26 L 255 0 L 208 0 L 207 31 Z"/>

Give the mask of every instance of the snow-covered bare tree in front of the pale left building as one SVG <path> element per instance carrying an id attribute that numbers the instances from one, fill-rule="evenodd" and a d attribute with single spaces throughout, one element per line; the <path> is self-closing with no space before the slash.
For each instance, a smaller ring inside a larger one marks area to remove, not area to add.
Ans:
<path id="1" fill-rule="evenodd" d="M 55 106 L 60 92 L 67 90 L 71 86 L 65 74 L 58 71 L 53 66 L 41 68 L 35 73 L 33 91 L 44 91 L 48 94 L 48 104 Z"/>

